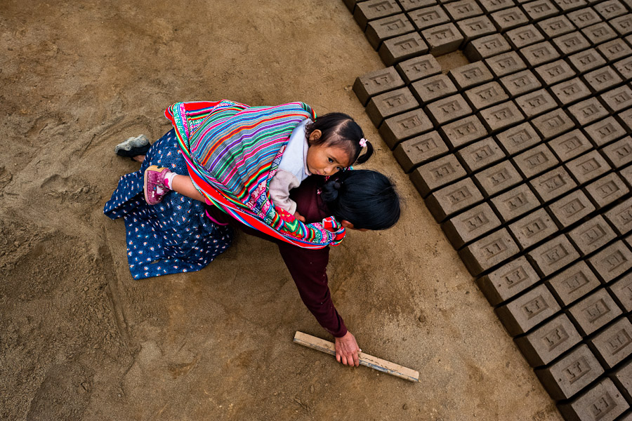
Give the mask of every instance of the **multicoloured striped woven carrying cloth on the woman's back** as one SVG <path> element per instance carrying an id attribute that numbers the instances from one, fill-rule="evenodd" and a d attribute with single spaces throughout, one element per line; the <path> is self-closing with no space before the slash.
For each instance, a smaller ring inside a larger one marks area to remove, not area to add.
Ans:
<path id="1" fill-rule="evenodd" d="M 303 224 L 268 194 L 289 137 L 315 113 L 303 102 L 249 107 L 238 102 L 176 102 L 173 123 L 189 176 L 206 199 L 233 218 L 303 248 L 336 246 L 345 229 L 333 216 Z"/>

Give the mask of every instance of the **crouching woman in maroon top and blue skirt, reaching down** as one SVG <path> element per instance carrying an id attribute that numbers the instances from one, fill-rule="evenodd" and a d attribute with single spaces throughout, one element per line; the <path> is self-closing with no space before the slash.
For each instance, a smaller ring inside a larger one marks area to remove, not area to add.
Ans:
<path id="1" fill-rule="evenodd" d="M 176 135 L 173 130 L 166 133 L 147 150 L 146 156 L 142 155 L 146 145 L 127 149 L 121 145 L 117 153 L 142 161 L 142 165 L 140 171 L 121 178 L 104 212 L 112 219 L 124 217 L 128 261 L 134 279 L 202 269 L 230 246 L 231 227 L 242 229 L 277 243 L 303 303 L 321 326 L 334 335 L 336 359 L 345 365 L 359 364 L 355 337 L 331 301 L 327 280 L 329 247 L 307 249 L 273 239 L 214 206 L 178 194 L 177 190 L 158 205 L 149 206 L 143 199 L 145 168 L 157 165 L 186 173 Z M 291 191 L 291 199 L 308 223 L 320 222 L 333 214 L 344 227 L 366 231 L 391 227 L 400 216 L 393 184 L 374 171 L 345 171 L 328 182 L 312 175 Z"/>

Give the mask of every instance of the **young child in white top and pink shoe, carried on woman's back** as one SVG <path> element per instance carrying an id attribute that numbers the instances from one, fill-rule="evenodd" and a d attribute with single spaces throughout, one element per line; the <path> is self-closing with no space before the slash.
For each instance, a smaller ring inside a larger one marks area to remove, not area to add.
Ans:
<path id="1" fill-rule="evenodd" d="M 362 149 L 367 151 L 360 155 Z M 347 114 L 329 113 L 315 121 L 305 119 L 291 132 L 268 193 L 277 209 L 305 222 L 289 198 L 291 189 L 298 187 L 309 175 L 334 175 L 353 164 L 366 162 L 374 150 L 364 139 L 362 128 Z M 238 159 L 235 158 L 235 159 Z M 150 205 L 162 201 L 170 190 L 192 199 L 205 201 L 187 175 L 178 175 L 167 168 L 150 166 L 145 171 L 145 200 Z"/>

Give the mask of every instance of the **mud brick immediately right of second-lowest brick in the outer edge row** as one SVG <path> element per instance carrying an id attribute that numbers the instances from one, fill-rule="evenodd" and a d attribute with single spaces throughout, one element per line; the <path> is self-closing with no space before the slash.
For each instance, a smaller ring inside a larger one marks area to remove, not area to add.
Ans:
<path id="1" fill-rule="evenodd" d="M 632 354 L 632 323 L 626 318 L 608 326 L 590 341 L 605 368 L 612 368 Z"/>

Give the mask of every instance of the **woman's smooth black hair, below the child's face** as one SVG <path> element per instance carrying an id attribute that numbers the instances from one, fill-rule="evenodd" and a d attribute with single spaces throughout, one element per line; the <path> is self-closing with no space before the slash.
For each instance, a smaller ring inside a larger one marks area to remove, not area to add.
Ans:
<path id="1" fill-rule="evenodd" d="M 321 195 L 338 221 L 357 229 L 387 229 L 400 219 L 395 186 L 377 171 L 342 171 L 323 185 Z"/>

